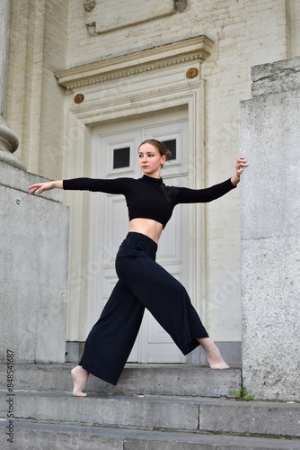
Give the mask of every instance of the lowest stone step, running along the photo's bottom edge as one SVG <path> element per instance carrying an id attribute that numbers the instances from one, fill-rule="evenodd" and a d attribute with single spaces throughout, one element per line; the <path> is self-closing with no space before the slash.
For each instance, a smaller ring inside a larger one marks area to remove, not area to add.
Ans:
<path id="1" fill-rule="evenodd" d="M 2 428 L 2 429 L 1 429 Z M 235 437 L 179 432 L 83 427 L 14 422 L 13 443 L 4 439 L 2 450 L 299 450 L 299 440 Z"/>

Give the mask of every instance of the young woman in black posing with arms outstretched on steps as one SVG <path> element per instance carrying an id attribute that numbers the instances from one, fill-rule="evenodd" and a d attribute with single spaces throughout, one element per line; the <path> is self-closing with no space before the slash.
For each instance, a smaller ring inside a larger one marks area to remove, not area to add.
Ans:
<path id="1" fill-rule="evenodd" d="M 86 339 L 81 361 L 71 371 L 75 396 L 86 395 L 83 389 L 89 374 L 111 384 L 118 383 L 145 308 L 170 334 L 183 355 L 201 345 L 212 369 L 229 368 L 216 344 L 208 338 L 188 293 L 155 263 L 155 253 L 176 204 L 211 202 L 228 193 L 239 183 L 247 163 L 238 157 L 232 178 L 207 189 L 189 189 L 163 184 L 161 169 L 170 155 L 162 142 L 148 139 L 138 148 L 139 166 L 144 173 L 139 179 L 75 178 L 32 184 L 29 188 L 30 193 L 54 188 L 122 193 L 128 205 L 129 232 L 116 258 L 119 281 Z"/>

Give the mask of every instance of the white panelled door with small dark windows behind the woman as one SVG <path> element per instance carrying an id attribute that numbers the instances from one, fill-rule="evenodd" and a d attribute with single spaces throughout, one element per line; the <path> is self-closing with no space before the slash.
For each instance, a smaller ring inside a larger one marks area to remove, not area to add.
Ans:
<path id="1" fill-rule="evenodd" d="M 166 141 L 168 146 L 174 148 L 175 157 L 163 167 L 164 183 L 188 185 L 188 122 L 185 112 L 173 112 L 156 119 L 147 118 L 95 128 L 91 176 L 141 177 L 143 174 L 138 166 L 137 148 L 143 140 L 149 138 Z M 90 198 L 89 328 L 98 319 L 117 282 L 115 257 L 120 242 L 128 233 L 128 211 L 122 195 L 92 193 Z M 163 230 L 156 259 L 186 287 L 188 229 L 187 205 L 178 205 Z M 181 363 L 185 358 L 169 335 L 146 311 L 128 361 Z"/>

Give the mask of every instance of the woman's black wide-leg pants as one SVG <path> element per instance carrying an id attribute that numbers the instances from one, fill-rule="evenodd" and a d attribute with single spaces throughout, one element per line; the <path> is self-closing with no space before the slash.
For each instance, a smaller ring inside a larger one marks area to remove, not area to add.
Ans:
<path id="1" fill-rule="evenodd" d="M 145 308 L 151 312 L 183 355 L 207 338 L 207 330 L 182 284 L 155 262 L 157 244 L 129 232 L 119 247 L 119 281 L 84 346 L 79 365 L 111 384 L 119 375 L 137 338 Z"/>

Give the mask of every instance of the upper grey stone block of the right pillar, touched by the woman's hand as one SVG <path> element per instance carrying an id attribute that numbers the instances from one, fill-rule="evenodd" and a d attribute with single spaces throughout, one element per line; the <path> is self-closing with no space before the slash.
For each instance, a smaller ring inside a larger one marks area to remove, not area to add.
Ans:
<path id="1" fill-rule="evenodd" d="M 243 239 L 300 232 L 299 106 L 300 89 L 242 103 Z"/>

